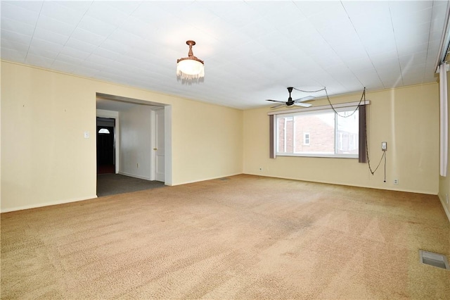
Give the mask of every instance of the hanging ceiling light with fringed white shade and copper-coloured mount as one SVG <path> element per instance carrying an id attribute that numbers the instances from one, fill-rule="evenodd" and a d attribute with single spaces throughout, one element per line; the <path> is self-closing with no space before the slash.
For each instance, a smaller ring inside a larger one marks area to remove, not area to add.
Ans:
<path id="1" fill-rule="evenodd" d="M 181 80 L 199 80 L 205 77 L 205 65 L 201 59 L 194 56 L 192 46 L 194 41 L 186 41 L 189 46 L 188 57 L 176 60 L 176 77 Z"/>

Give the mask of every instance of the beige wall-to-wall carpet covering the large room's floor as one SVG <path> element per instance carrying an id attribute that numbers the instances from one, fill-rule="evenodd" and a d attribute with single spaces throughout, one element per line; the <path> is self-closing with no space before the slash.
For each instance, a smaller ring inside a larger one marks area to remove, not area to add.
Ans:
<path id="1" fill-rule="evenodd" d="M 238 175 L 1 214 L 1 299 L 450 299 L 437 196 Z"/>

